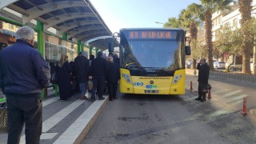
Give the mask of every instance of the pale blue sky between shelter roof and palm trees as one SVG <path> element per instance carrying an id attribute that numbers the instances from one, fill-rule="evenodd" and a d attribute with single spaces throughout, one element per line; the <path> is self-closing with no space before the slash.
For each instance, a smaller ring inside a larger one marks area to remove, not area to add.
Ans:
<path id="1" fill-rule="evenodd" d="M 90 0 L 112 33 L 122 28 L 162 27 L 182 9 L 200 0 Z"/>

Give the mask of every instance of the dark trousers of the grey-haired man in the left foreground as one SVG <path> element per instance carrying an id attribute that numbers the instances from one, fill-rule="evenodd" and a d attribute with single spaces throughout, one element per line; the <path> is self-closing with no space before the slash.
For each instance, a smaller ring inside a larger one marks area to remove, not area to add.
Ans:
<path id="1" fill-rule="evenodd" d="M 39 144 L 42 134 L 41 94 L 6 94 L 8 144 L 18 144 L 25 123 L 26 144 Z"/>

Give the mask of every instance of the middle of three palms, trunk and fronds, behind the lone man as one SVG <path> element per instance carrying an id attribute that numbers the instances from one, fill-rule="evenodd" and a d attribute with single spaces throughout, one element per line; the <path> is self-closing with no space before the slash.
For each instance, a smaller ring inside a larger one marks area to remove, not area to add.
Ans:
<path id="1" fill-rule="evenodd" d="M 246 0 L 245 0 L 246 1 Z M 212 42 L 212 14 L 218 10 L 225 10 L 229 8 L 230 2 L 232 0 L 201 0 L 201 5 L 197 5 L 202 9 L 202 14 L 205 19 L 205 38 L 206 38 L 206 48 L 208 52 L 208 63 L 210 70 L 214 70 L 213 64 L 213 42 Z"/>

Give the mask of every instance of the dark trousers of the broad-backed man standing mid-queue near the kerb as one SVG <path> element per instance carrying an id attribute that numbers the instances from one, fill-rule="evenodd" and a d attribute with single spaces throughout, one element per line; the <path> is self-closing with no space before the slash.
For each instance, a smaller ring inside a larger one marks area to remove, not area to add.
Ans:
<path id="1" fill-rule="evenodd" d="M 91 90 L 91 99 L 95 100 L 96 89 L 98 92 L 98 98 L 103 98 L 103 90 L 105 86 L 105 77 L 95 77 L 93 78 L 93 89 Z"/>

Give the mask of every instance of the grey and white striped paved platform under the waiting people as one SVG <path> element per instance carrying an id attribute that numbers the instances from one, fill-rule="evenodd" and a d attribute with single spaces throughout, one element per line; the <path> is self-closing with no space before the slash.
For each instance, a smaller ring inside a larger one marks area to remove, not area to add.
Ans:
<path id="1" fill-rule="evenodd" d="M 49 89 L 48 97 L 42 102 L 42 135 L 41 144 L 71 144 L 80 143 L 86 136 L 91 126 L 97 120 L 106 105 L 105 100 L 90 102 L 80 99 L 80 94 L 75 94 L 68 101 L 59 101 L 54 96 L 54 90 Z M 0 132 L 0 144 L 7 143 L 7 133 Z M 25 144 L 24 129 L 20 144 Z"/>

